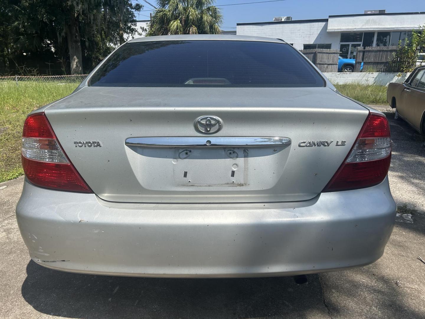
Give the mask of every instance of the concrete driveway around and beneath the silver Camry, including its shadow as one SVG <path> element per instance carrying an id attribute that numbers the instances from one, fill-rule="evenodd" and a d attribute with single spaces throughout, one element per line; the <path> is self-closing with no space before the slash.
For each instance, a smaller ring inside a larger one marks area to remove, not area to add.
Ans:
<path id="1" fill-rule="evenodd" d="M 384 256 L 349 271 L 254 279 L 154 279 L 64 273 L 32 262 L 14 208 L 23 177 L 0 184 L 1 318 L 425 318 L 425 148 L 390 120 L 389 173 L 400 212 Z M 7 187 L 4 187 L 7 186 Z"/>

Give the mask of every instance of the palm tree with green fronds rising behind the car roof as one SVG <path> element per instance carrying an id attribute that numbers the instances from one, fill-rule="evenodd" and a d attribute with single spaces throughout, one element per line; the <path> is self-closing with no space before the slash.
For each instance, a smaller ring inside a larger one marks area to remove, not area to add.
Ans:
<path id="1" fill-rule="evenodd" d="M 147 35 L 220 34 L 223 15 L 214 0 L 159 0 Z"/>

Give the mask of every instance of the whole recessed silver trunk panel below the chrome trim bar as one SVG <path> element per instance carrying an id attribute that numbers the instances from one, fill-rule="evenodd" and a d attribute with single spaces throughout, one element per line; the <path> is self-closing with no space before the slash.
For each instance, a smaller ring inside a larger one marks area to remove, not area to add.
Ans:
<path id="1" fill-rule="evenodd" d="M 287 146 L 127 146 L 132 174 L 140 185 L 134 189 L 151 201 L 158 200 L 154 196 L 164 194 L 167 198 L 173 196 L 172 200 L 180 196 L 196 197 L 197 191 L 208 191 L 208 196 L 215 192 L 222 196 L 227 191 L 238 191 L 242 196 L 248 194 L 245 191 L 281 192 L 280 188 L 286 184 L 279 180 L 288 156 Z M 181 191 L 188 194 L 178 194 Z"/>

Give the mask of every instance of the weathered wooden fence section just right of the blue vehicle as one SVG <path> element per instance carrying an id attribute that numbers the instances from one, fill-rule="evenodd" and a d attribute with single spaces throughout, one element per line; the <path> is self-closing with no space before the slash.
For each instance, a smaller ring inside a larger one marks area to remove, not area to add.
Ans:
<path id="1" fill-rule="evenodd" d="M 362 62 L 362 72 L 395 71 L 397 66 L 390 62 L 397 49 L 397 46 L 367 46 L 365 48 L 359 48 L 357 50 L 354 72 L 360 72 Z"/>

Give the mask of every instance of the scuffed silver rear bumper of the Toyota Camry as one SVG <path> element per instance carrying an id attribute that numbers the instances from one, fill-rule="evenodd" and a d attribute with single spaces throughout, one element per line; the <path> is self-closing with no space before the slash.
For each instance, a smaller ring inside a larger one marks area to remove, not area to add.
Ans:
<path id="1" fill-rule="evenodd" d="M 382 256 L 395 212 L 388 179 L 303 202 L 157 205 L 26 181 L 16 208 L 40 265 L 158 277 L 285 276 L 369 264 Z"/>

